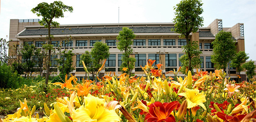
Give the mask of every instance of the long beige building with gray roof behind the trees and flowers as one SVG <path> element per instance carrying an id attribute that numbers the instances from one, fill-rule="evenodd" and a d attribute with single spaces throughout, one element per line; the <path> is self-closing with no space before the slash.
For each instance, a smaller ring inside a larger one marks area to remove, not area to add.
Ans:
<path id="1" fill-rule="evenodd" d="M 13 44 L 21 45 L 23 43 L 34 44 L 40 48 L 45 43 L 45 37 L 48 34 L 47 28 L 37 23 L 38 19 L 29 20 L 10 20 L 10 46 Z M 114 24 L 77 24 L 77 25 L 60 25 L 60 28 L 51 28 L 51 34 L 54 36 L 52 43 L 60 44 L 66 36 L 72 36 L 73 41 L 68 44 L 68 49 L 73 49 L 75 56 L 73 57 L 73 65 L 76 66 L 72 72 L 78 77 L 84 76 L 83 67 L 79 65 L 80 55 L 84 51 L 90 51 L 96 41 L 102 41 L 110 46 L 110 57 L 106 62 L 106 73 L 115 71 L 117 75 L 122 74 L 119 71 L 121 64 L 122 52 L 116 47 L 116 37 L 122 27 L 133 29 L 136 38 L 133 40 L 133 54 L 136 58 L 135 69 L 133 73 L 138 76 L 143 75 L 140 66 L 146 65 L 147 59 L 157 60 L 154 64 L 163 64 L 163 73 L 181 66 L 179 57 L 182 56 L 183 49 L 186 44 L 185 38 L 179 38 L 180 34 L 171 31 L 174 23 L 114 23 Z M 214 71 L 214 64 L 210 61 L 212 54 L 212 41 L 215 35 L 225 30 L 232 33 L 233 39 L 236 41 L 238 51 L 245 51 L 243 23 L 237 23 L 230 28 L 222 27 L 222 20 L 214 20 L 208 27 L 199 28 L 196 33 L 191 33 L 189 39 L 198 41 L 199 48 L 202 51 L 200 56 L 202 60 L 201 69 L 204 71 Z M 10 52 L 10 51 L 9 51 Z M 10 54 L 11 55 L 11 54 Z M 57 55 L 52 55 L 57 57 Z M 13 56 L 16 58 L 16 56 Z M 104 70 L 102 73 L 105 72 Z M 57 72 L 58 73 L 58 72 Z M 245 73 L 241 73 L 245 78 Z M 180 76 L 184 76 L 179 73 Z M 166 74 L 166 76 L 173 76 Z M 235 68 L 230 69 L 230 77 L 237 78 Z"/>

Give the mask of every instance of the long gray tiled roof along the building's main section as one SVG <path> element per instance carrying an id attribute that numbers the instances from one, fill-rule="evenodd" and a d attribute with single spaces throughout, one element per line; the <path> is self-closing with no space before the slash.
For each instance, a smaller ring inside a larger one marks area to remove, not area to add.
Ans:
<path id="1" fill-rule="evenodd" d="M 133 27 L 134 33 L 174 33 L 171 29 L 174 27 Z M 69 28 L 51 29 L 52 35 L 60 34 L 92 34 L 92 33 L 119 33 L 122 28 Z M 48 35 L 48 29 L 25 30 L 19 36 L 27 35 Z"/>

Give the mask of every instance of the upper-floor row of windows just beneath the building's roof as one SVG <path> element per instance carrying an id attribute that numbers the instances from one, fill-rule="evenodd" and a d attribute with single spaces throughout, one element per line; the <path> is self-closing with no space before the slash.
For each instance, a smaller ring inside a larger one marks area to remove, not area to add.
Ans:
<path id="1" fill-rule="evenodd" d="M 93 44 L 97 41 L 101 41 L 101 40 L 90 40 L 90 46 L 93 46 Z M 26 41 L 25 43 L 31 45 L 31 44 L 33 44 L 33 41 Z M 107 46 L 116 46 L 116 40 L 106 40 L 106 43 L 107 43 Z M 44 41 L 36 41 L 35 46 L 42 47 L 43 44 L 44 44 Z M 178 39 L 178 46 L 184 46 L 186 44 L 187 44 L 187 42 L 185 39 Z M 57 47 L 60 45 L 60 41 L 52 41 L 52 45 Z M 160 41 L 160 39 L 149 39 L 148 45 L 149 46 L 160 46 L 161 41 Z M 62 41 L 62 46 L 72 47 L 73 41 Z M 77 40 L 76 46 L 77 47 L 88 46 L 87 40 Z M 133 46 L 146 46 L 146 40 L 145 39 L 134 39 Z M 164 46 L 175 46 L 175 39 L 164 39 Z M 199 43 L 199 48 L 200 49 L 202 48 L 202 43 Z M 204 48 L 212 49 L 212 44 L 204 43 Z"/>

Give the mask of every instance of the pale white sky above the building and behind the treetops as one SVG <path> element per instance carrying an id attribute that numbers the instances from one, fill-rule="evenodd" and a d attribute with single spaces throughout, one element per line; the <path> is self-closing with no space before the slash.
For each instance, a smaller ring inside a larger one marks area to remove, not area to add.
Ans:
<path id="1" fill-rule="evenodd" d="M 9 40 L 10 19 L 37 19 L 31 9 L 37 4 L 54 0 L 0 0 L 0 38 Z M 118 23 L 166 23 L 174 18 L 173 7 L 180 0 L 62 0 L 73 7 L 73 13 L 55 19 L 63 24 Z M 244 23 L 245 51 L 249 60 L 256 61 L 256 0 L 202 0 L 204 26 L 215 19 L 222 19 L 222 26 L 232 27 Z"/>

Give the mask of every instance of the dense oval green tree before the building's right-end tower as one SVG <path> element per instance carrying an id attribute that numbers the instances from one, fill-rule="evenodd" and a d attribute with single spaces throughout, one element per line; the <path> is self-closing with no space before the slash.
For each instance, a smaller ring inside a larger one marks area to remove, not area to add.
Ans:
<path id="1" fill-rule="evenodd" d="M 236 54 L 235 41 L 232 39 L 230 32 L 220 31 L 216 34 L 213 44 L 213 53 L 211 57 L 214 67 L 225 69 L 227 63 L 232 60 Z"/>

